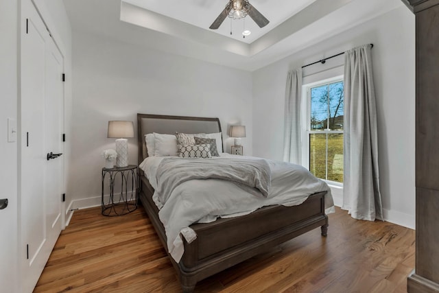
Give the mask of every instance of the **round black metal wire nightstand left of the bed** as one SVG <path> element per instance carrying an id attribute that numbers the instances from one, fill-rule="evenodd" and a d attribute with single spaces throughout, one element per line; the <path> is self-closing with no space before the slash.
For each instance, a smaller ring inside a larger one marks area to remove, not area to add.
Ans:
<path id="1" fill-rule="evenodd" d="M 102 168 L 102 215 L 131 213 L 137 209 L 138 192 L 139 167 L 137 165 Z"/>

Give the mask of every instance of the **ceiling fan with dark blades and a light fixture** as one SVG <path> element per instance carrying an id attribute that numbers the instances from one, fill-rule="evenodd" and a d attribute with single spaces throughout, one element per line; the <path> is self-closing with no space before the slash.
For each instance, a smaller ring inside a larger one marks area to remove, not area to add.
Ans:
<path id="1" fill-rule="evenodd" d="M 248 3 L 248 0 L 230 0 L 228 1 L 226 8 L 224 8 L 209 28 L 211 30 L 217 30 L 227 16 L 231 19 L 244 19 L 247 15 L 250 15 L 259 27 L 265 27 L 265 25 L 270 23 L 268 19 L 265 19 L 265 16 L 263 16 L 261 12 Z"/>

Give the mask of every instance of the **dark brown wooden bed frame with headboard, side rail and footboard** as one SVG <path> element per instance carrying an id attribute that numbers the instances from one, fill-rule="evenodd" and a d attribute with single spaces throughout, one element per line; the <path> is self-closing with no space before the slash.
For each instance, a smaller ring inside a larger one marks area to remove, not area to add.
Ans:
<path id="1" fill-rule="evenodd" d="M 217 118 L 137 114 L 137 123 L 139 164 L 147 157 L 147 133 L 221 132 Z M 139 200 L 167 250 L 165 228 L 158 218 L 158 209 L 152 200 L 154 189 L 142 171 L 140 183 Z M 318 226 L 322 229 L 322 235 L 326 236 L 328 217 L 324 213 L 325 194 L 326 192 L 313 194 L 305 202 L 294 207 L 263 207 L 249 215 L 218 219 L 209 224 L 191 225 L 197 233 L 197 239 L 188 244 L 182 237 L 185 253 L 179 263 L 169 255 L 178 273 L 183 292 L 193 292 L 198 281 Z"/>

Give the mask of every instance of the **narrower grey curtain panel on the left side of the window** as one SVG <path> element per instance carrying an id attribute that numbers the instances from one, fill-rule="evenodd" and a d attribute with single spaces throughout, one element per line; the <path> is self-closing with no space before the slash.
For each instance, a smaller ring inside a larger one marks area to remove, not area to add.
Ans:
<path id="1" fill-rule="evenodd" d="M 302 92 L 302 69 L 288 72 L 285 89 L 285 128 L 283 161 L 300 164 L 300 99 Z"/>

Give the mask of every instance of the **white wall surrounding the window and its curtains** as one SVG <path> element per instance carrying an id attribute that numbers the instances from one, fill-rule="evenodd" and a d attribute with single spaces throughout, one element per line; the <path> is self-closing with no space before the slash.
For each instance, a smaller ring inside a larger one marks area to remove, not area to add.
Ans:
<path id="1" fill-rule="evenodd" d="M 415 23 L 401 6 L 253 73 L 253 154 L 283 156 L 287 71 L 373 43 L 379 126 L 379 168 L 386 220 L 415 226 Z M 343 56 L 307 67 L 312 75 L 342 65 Z M 337 198 L 338 200 L 338 198 Z"/>

